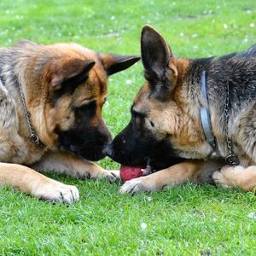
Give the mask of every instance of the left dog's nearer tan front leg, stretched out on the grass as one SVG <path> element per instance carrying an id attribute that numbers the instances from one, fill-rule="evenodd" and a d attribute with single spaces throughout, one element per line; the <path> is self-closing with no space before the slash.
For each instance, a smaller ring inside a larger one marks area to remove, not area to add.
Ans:
<path id="1" fill-rule="evenodd" d="M 79 200 L 79 190 L 38 173 L 26 166 L 0 163 L 0 184 L 40 199 L 71 203 Z"/>

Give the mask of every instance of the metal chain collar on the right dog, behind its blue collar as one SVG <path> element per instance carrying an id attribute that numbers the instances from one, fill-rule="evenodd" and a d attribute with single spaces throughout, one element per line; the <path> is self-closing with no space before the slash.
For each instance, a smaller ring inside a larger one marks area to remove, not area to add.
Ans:
<path id="1" fill-rule="evenodd" d="M 233 143 L 229 136 L 229 119 L 230 119 L 229 108 L 230 108 L 230 85 L 229 85 L 229 82 L 227 82 L 225 108 L 224 108 L 224 122 L 225 122 L 224 125 L 225 125 L 225 136 L 226 136 L 227 147 L 229 149 L 229 155 L 225 158 L 225 161 L 227 165 L 238 166 L 240 163 L 240 160 L 238 159 L 238 156 L 234 153 Z"/>

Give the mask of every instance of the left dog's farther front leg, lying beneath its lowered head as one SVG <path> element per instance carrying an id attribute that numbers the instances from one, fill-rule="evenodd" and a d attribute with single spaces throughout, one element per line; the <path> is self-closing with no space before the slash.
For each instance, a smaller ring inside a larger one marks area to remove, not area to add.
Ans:
<path id="1" fill-rule="evenodd" d="M 33 167 L 41 172 L 54 171 L 79 178 L 107 178 L 111 182 L 119 179 L 119 171 L 106 171 L 101 166 L 66 152 L 48 152 Z"/>

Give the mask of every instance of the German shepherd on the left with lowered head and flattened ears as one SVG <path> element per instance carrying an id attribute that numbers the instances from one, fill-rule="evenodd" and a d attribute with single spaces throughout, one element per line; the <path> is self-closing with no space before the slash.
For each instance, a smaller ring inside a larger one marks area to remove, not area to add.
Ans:
<path id="1" fill-rule="evenodd" d="M 79 44 L 22 41 L 0 49 L 0 183 L 70 203 L 79 190 L 34 171 L 119 178 L 100 160 L 112 139 L 102 119 L 108 76 L 138 56 L 98 54 Z"/>

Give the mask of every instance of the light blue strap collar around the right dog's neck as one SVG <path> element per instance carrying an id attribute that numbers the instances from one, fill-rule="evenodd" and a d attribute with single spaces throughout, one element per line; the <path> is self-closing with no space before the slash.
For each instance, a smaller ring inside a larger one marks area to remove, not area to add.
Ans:
<path id="1" fill-rule="evenodd" d="M 205 137 L 207 138 L 207 143 L 209 143 L 213 149 L 216 148 L 216 140 L 212 134 L 212 124 L 211 124 L 211 115 L 209 112 L 209 101 L 207 95 L 207 79 L 206 79 L 206 71 L 204 70 L 201 73 L 201 93 L 205 97 L 207 102 L 207 108 L 203 105 L 200 106 L 200 115 L 201 115 L 201 125 L 203 127 L 203 131 Z"/>

